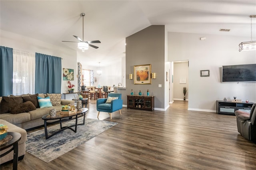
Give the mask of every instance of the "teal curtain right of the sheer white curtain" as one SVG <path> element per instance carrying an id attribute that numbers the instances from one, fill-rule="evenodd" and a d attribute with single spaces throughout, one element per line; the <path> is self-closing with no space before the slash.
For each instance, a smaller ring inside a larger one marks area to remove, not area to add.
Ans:
<path id="1" fill-rule="evenodd" d="M 61 92 L 61 58 L 36 53 L 35 93 Z"/>

